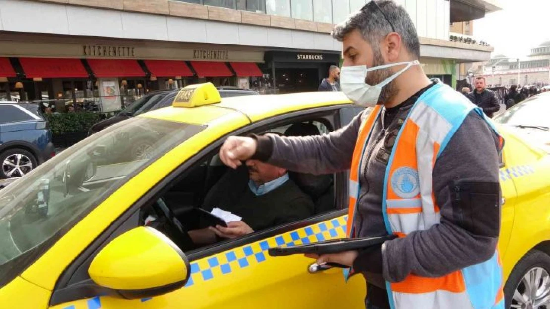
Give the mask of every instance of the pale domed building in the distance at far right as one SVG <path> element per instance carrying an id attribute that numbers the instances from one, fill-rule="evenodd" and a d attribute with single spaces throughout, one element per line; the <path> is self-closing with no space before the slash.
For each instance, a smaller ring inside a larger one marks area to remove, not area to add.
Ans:
<path id="1" fill-rule="evenodd" d="M 480 73 L 487 77 L 487 83 L 491 85 L 510 86 L 517 83 L 538 87 L 549 85 L 550 41 L 544 41 L 537 47 L 531 48 L 531 54 L 525 58 L 495 55 L 484 63 L 481 69 Z"/>

